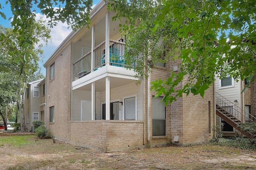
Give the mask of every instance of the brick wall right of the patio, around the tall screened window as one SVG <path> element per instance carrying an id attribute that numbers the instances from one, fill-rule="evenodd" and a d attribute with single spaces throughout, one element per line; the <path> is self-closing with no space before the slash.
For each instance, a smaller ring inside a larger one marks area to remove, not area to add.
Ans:
<path id="1" fill-rule="evenodd" d="M 152 69 L 153 72 L 150 74 L 150 82 L 159 78 L 165 80 L 170 76 L 170 70 L 174 69 L 174 66 L 178 66 L 178 64 L 180 64 L 180 60 L 169 60 L 165 68 L 156 67 Z M 180 88 L 182 88 L 182 83 L 180 83 Z M 177 98 L 177 101 L 166 106 L 165 137 L 152 136 L 152 101 L 150 100 L 150 141 L 147 141 L 147 143 L 170 143 L 173 142 L 174 136 L 179 136 L 178 145 L 208 142 L 209 136 L 213 136 L 211 130 L 209 134 L 211 125 L 214 125 L 215 107 L 213 88 L 212 86 L 206 90 L 204 98 L 200 95 L 192 96 L 190 94 L 186 96 L 184 94 L 182 98 Z M 155 94 L 155 92 L 150 92 L 150 96 L 154 96 Z M 146 95 L 144 96 L 144 101 L 146 101 Z M 146 106 L 144 109 L 146 109 Z M 146 116 L 146 113 L 144 115 Z"/>

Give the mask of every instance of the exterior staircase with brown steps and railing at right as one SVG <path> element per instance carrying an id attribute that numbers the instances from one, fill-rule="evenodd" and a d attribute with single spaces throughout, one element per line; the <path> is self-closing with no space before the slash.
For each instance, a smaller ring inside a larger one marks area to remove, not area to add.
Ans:
<path id="1" fill-rule="evenodd" d="M 224 121 L 236 128 L 243 135 L 248 138 L 253 138 L 255 134 L 250 132 L 242 131 L 238 128 L 238 125 L 246 122 L 256 123 L 256 117 L 247 113 L 245 110 L 236 106 L 220 94 L 216 93 L 216 114 L 221 117 Z"/>

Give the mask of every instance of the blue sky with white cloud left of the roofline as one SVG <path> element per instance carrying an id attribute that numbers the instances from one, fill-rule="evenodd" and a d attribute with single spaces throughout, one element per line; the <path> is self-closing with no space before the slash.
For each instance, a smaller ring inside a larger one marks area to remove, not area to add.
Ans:
<path id="1" fill-rule="evenodd" d="M 3 0 L 1 0 L 2 2 Z M 93 2 L 93 7 L 99 2 L 100 0 L 94 0 Z M 10 8 L 10 4 L 8 3 L 7 5 L 4 3 L 1 3 L 2 6 L 2 10 L 1 12 L 4 12 L 4 14 L 6 15 L 6 20 L 4 20 L 2 17 L 0 17 L 0 24 L 3 25 L 4 27 L 11 27 L 10 24 L 10 20 L 9 18 L 12 18 L 12 12 L 11 12 L 11 8 Z M 33 2 L 32 2 L 33 3 Z M 33 9 L 34 10 L 34 9 Z M 37 10 L 35 8 L 35 10 Z M 36 18 L 40 18 L 40 16 L 42 16 L 45 20 L 46 17 L 43 16 L 40 11 L 36 11 Z M 43 51 L 44 51 L 44 58 L 42 59 L 42 61 L 40 61 L 40 67 L 41 67 L 41 71 L 43 74 L 45 74 L 45 68 L 43 66 L 44 62 L 48 59 L 48 57 L 50 57 L 50 55 L 52 55 L 52 53 L 54 52 L 54 50 L 60 45 L 60 43 L 62 43 L 62 41 L 68 36 L 68 34 L 72 31 L 71 28 L 68 29 L 68 24 L 66 23 L 62 23 L 59 22 L 56 26 L 54 26 L 53 28 L 51 28 L 51 33 L 50 35 L 52 36 L 52 40 L 48 41 L 48 45 L 46 45 L 45 43 L 42 42 L 43 44 Z"/>

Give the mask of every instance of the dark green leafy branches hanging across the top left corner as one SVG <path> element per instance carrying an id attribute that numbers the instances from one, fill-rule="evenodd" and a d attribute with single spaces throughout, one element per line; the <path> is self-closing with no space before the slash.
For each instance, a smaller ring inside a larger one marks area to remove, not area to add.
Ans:
<path id="1" fill-rule="evenodd" d="M 66 21 L 73 29 L 89 25 L 89 13 L 92 9 L 92 0 L 6 0 L 10 4 L 13 14 L 11 25 L 14 28 L 12 32 L 16 37 L 16 42 L 20 51 L 19 56 L 16 53 L 10 53 L 12 60 L 20 65 L 31 57 L 28 49 L 37 41 L 32 35 L 35 23 L 35 12 L 39 11 L 50 18 L 49 24 L 56 25 L 57 21 Z M 61 7 L 63 6 L 63 7 Z M 2 12 L 3 3 L 0 3 L 0 16 L 6 19 Z M 9 19 L 9 20 L 10 20 Z"/>

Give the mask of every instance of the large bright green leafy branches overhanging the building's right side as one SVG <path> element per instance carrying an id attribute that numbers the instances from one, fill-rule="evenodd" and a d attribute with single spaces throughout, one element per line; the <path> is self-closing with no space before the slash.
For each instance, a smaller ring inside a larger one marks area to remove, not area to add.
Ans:
<path id="1" fill-rule="evenodd" d="M 167 104 L 184 93 L 203 97 L 216 74 L 253 80 L 255 4 L 256 0 L 115 0 L 108 9 L 116 12 L 114 20 L 126 18 L 120 25 L 120 31 L 128 33 L 125 57 L 136 62 L 139 78 L 159 59 L 180 61 L 179 72 L 152 83 L 156 97 L 164 93 Z"/>

